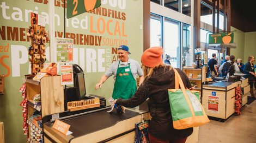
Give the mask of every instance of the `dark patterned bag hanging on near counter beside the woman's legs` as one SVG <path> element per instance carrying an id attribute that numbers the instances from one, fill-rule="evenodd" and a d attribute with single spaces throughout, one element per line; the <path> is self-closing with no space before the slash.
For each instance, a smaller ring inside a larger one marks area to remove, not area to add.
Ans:
<path id="1" fill-rule="evenodd" d="M 144 121 L 142 115 L 142 122 L 135 124 L 135 142 L 136 143 L 148 143 L 149 142 L 149 121 Z"/>

